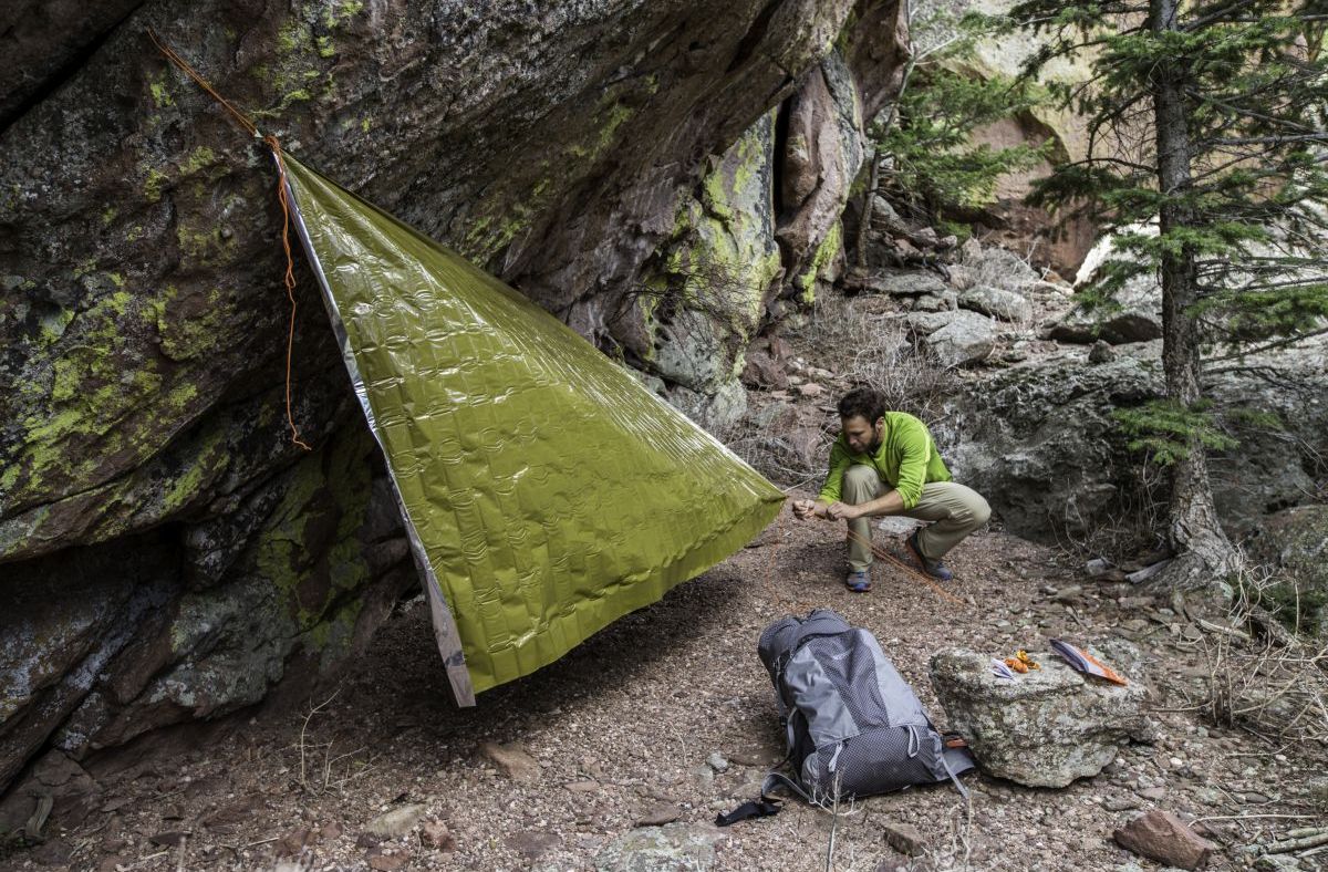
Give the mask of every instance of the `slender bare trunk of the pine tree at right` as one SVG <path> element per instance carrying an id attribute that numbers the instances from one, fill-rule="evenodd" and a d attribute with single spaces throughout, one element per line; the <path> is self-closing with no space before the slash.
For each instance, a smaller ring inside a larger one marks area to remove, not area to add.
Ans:
<path id="1" fill-rule="evenodd" d="M 1150 0 L 1149 19 L 1155 33 L 1178 29 L 1179 0 Z M 1158 186 L 1167 199 L 1159 215 L 1163 235 L 1191 226 L 1194 214 L 1175 195 L 1191 184 L 1190 130 L 1185 106 L 1187 72 L 1182 64 L 1161 64 L 1154 73 L 1153 111 L 1157 123 Z M 1198 300 L 1198 269 L 1193 248 L 1162 256 L 1162 369 L 1167 398 L 1190 407 L 1201 398 L 1199 336 L 1190 315 Z M 1190 438 L 1189 457 L 1171 467 L 1171 504 L 1167 535 L 1179 555 L 1163 583 L 1185 588 L 1207 587 L 1236 568 L 1236 552 L 1212 504 L 1208 465 L 1202 442 Z"/>

